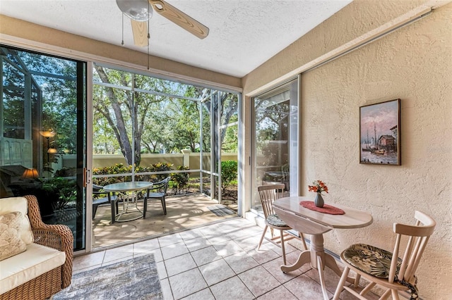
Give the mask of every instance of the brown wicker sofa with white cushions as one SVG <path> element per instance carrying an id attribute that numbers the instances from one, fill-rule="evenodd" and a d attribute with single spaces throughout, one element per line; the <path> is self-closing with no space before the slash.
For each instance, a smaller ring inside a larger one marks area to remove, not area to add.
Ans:
<path id="1" fill-rule="evenodd" d="M 19 233 L 26 249 L 0 261 L 0 300 L 48 299 L 71 284 L 72 232 L 66 225 L 42 223 L 35 196 L 0 199 L 0 215 L 16 211 L 24 216 L 20 222 L 29 220 Z"/>

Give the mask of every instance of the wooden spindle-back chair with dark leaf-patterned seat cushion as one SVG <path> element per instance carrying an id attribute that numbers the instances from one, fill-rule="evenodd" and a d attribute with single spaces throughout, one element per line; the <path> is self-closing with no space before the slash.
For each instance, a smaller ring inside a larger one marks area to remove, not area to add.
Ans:
<path id="1" fill-rule="evenodd" d="M 391 294 L 392 299 L 398 300 L 399 291 L 408 292 L 411 295 L 410 299 L 417 299 L 415 272 L 429 237 L 434 232 L 436 222 L 420 211 L 415 211 L 415 219 L 415 225 L 394 223 L 396 242 L 392 253 L 367 244 L 354 244 L 345 249 L 340 254 L 345 269 L 333 299 L 339 299 L 343 289 L 347 289 L 359 299 L 366 299 L 364 296 L 375 285 L 385 289 L 380 299 L 387 299 Z M 403 246 L 405 243 L 406 246 Z M 345 286 L 350 270 L 357 273 L 355 287 L 357 287 L 360 277 L 364 277 L 369 282 L 361 292 Z"/>

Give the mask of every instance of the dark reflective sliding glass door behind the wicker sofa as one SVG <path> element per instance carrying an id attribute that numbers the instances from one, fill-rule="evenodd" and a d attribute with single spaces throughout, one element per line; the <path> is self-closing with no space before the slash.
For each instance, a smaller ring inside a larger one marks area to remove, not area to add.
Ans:
<path id="1" fill-rule="evenodd" d="M 37 196 L 85 248 L 86 64 L 0 46 L 0 197 Z"/>

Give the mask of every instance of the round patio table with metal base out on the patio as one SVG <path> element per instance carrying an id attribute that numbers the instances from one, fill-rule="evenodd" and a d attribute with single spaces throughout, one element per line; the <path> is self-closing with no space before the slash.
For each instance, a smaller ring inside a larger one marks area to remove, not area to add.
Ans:
<path id="1" fill-rule="evenodd" d="M 131 220 L 136 220 L 143 217 L 143 211 L 138 208 L 138 192 L 143 189 L 148 189 L 152 187 L 152 182 L 147 181 L 131 181 L 131 182 L 119 182 L 113 183 L 112 185 L 106 185 L 104 187 L 107 192 L 117 192 L 118 200 L 122 200 L 122 211 L 117 212 L 115 208 L 114 220 L 116 222 L 126 222 Z M 114 205 L 114 204 L 112 204 Z M 115 206 L 116 207 L 116 206 Z M 123 215 L 128 213 L 134 213 L 131 218 L 121 219 Z M 137 216 L 138 215 L 138 216 Z"/>

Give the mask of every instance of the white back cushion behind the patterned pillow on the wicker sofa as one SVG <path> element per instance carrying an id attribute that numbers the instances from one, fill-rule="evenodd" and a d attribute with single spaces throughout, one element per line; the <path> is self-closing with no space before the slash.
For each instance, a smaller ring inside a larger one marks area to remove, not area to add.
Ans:
<path id="1" fill-rule="evenodd" d="M 25 197 L 0 198 L 0 215 L 15 211 L 20 211 L 23 215 L 22 225 L 20 225 L 20 239 L 25 244 L 31 244 L 33 242 L 33 233 L 31 231 L 30 220 L 28 220 L 27 199 Z"/>

